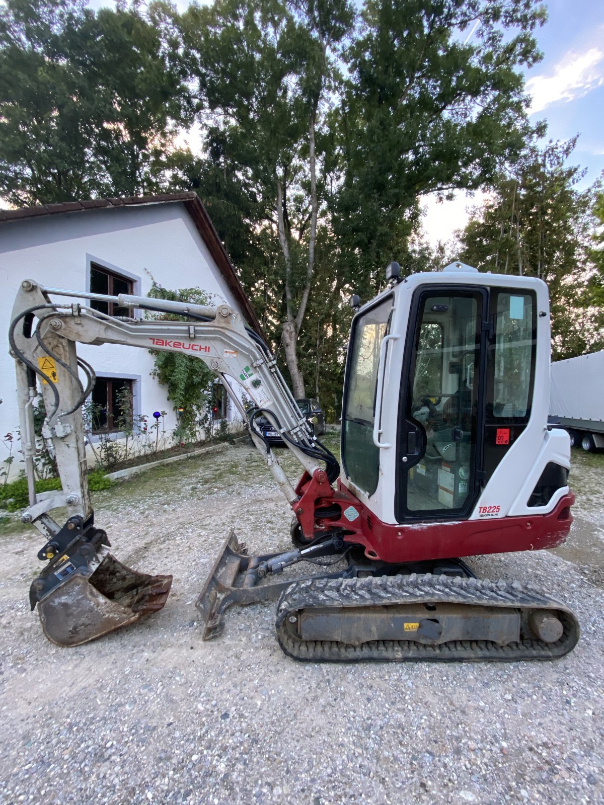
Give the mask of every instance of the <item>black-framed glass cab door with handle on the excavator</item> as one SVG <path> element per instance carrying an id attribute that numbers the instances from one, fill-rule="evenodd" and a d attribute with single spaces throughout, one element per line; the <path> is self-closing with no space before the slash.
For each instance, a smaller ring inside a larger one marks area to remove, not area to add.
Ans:
<path id="1" fill-rule="evenodd" d="M 487 293 L 428 287 L 412 301 L 400 394 L 395 514 L 470 513 L 483 479 Z"/>

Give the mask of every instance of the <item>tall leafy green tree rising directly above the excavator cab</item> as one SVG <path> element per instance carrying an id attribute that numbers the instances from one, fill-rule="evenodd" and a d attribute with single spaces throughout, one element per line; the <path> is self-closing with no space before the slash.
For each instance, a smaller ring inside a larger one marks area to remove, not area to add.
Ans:
<path id="1" fill-rule="evenodd" d="M 418 198 L 481 187 L 530 132 L 519 68 L 540 59 L 537 0 L 367 0 L 346 52 L 334 229 L 371 287 L 405 262 Z"/>

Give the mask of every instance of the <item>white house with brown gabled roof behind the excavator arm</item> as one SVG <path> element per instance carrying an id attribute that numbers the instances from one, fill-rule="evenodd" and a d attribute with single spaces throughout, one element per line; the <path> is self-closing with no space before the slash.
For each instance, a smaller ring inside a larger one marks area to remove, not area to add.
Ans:
<path id="1" fill-rule="evenodd" d="M 146 295 L 153 279 L 174 291 L 200 287 L 214 295 L 217 304 L 226 302 L 237 308 L 262 334 L 195 193 L 0 210 L 0 327 L 5 332 L 5 349 L 0 353 L 0 469 L 8 455 L 1 438 L 14 432 L 19 423 L 14 361 L 8 354 L 10 312 L 19 284 L 28 278 L 45 287 L 110 295 Z M 110 309 L 105 312 L 114 314 Z M 116 315 L 127 314 L 120 311 Z M 163 420 L 166 431 L 176 427 L 177 415 L 165 387 L 151 378 L 154 359 L 150 353 L 119 345 L 78 345 L 78 353 L 97 373 L 94 401 L 106 411 L 101 430 L 115 429 L 115 394 L 125 386 L 132 392 L 135 415 L 151 418 L 153 411 L 167 411 Z M 215 404 L 218 417 L 233 418 L 234 411 L 221 394 Z"/>

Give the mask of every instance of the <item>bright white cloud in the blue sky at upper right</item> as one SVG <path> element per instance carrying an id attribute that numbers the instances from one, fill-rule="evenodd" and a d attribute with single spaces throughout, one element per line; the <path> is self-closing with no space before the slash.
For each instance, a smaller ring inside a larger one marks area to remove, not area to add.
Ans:
<path id="1" fill-rule="evenodd" d="M 541 112 L 556 101 L 573 101 L 604 84 L 604 51 L 600 47 L 577 53 L 568 52 L 547 76 L 527 81 L 532 95 L 531 114 Z"/>

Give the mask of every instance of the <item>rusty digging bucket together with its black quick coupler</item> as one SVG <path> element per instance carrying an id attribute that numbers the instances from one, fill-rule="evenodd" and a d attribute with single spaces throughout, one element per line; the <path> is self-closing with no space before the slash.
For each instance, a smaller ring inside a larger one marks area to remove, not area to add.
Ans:
<path id="1" fill-rule="evenodd" d="M 31 584 L 43 633 L 57 646 L 80 646 L 162 609 L 172 576 L 149 576 L 118 562 L 105 531 L 69 518 L 39 551 L 48 565 Z"/>

